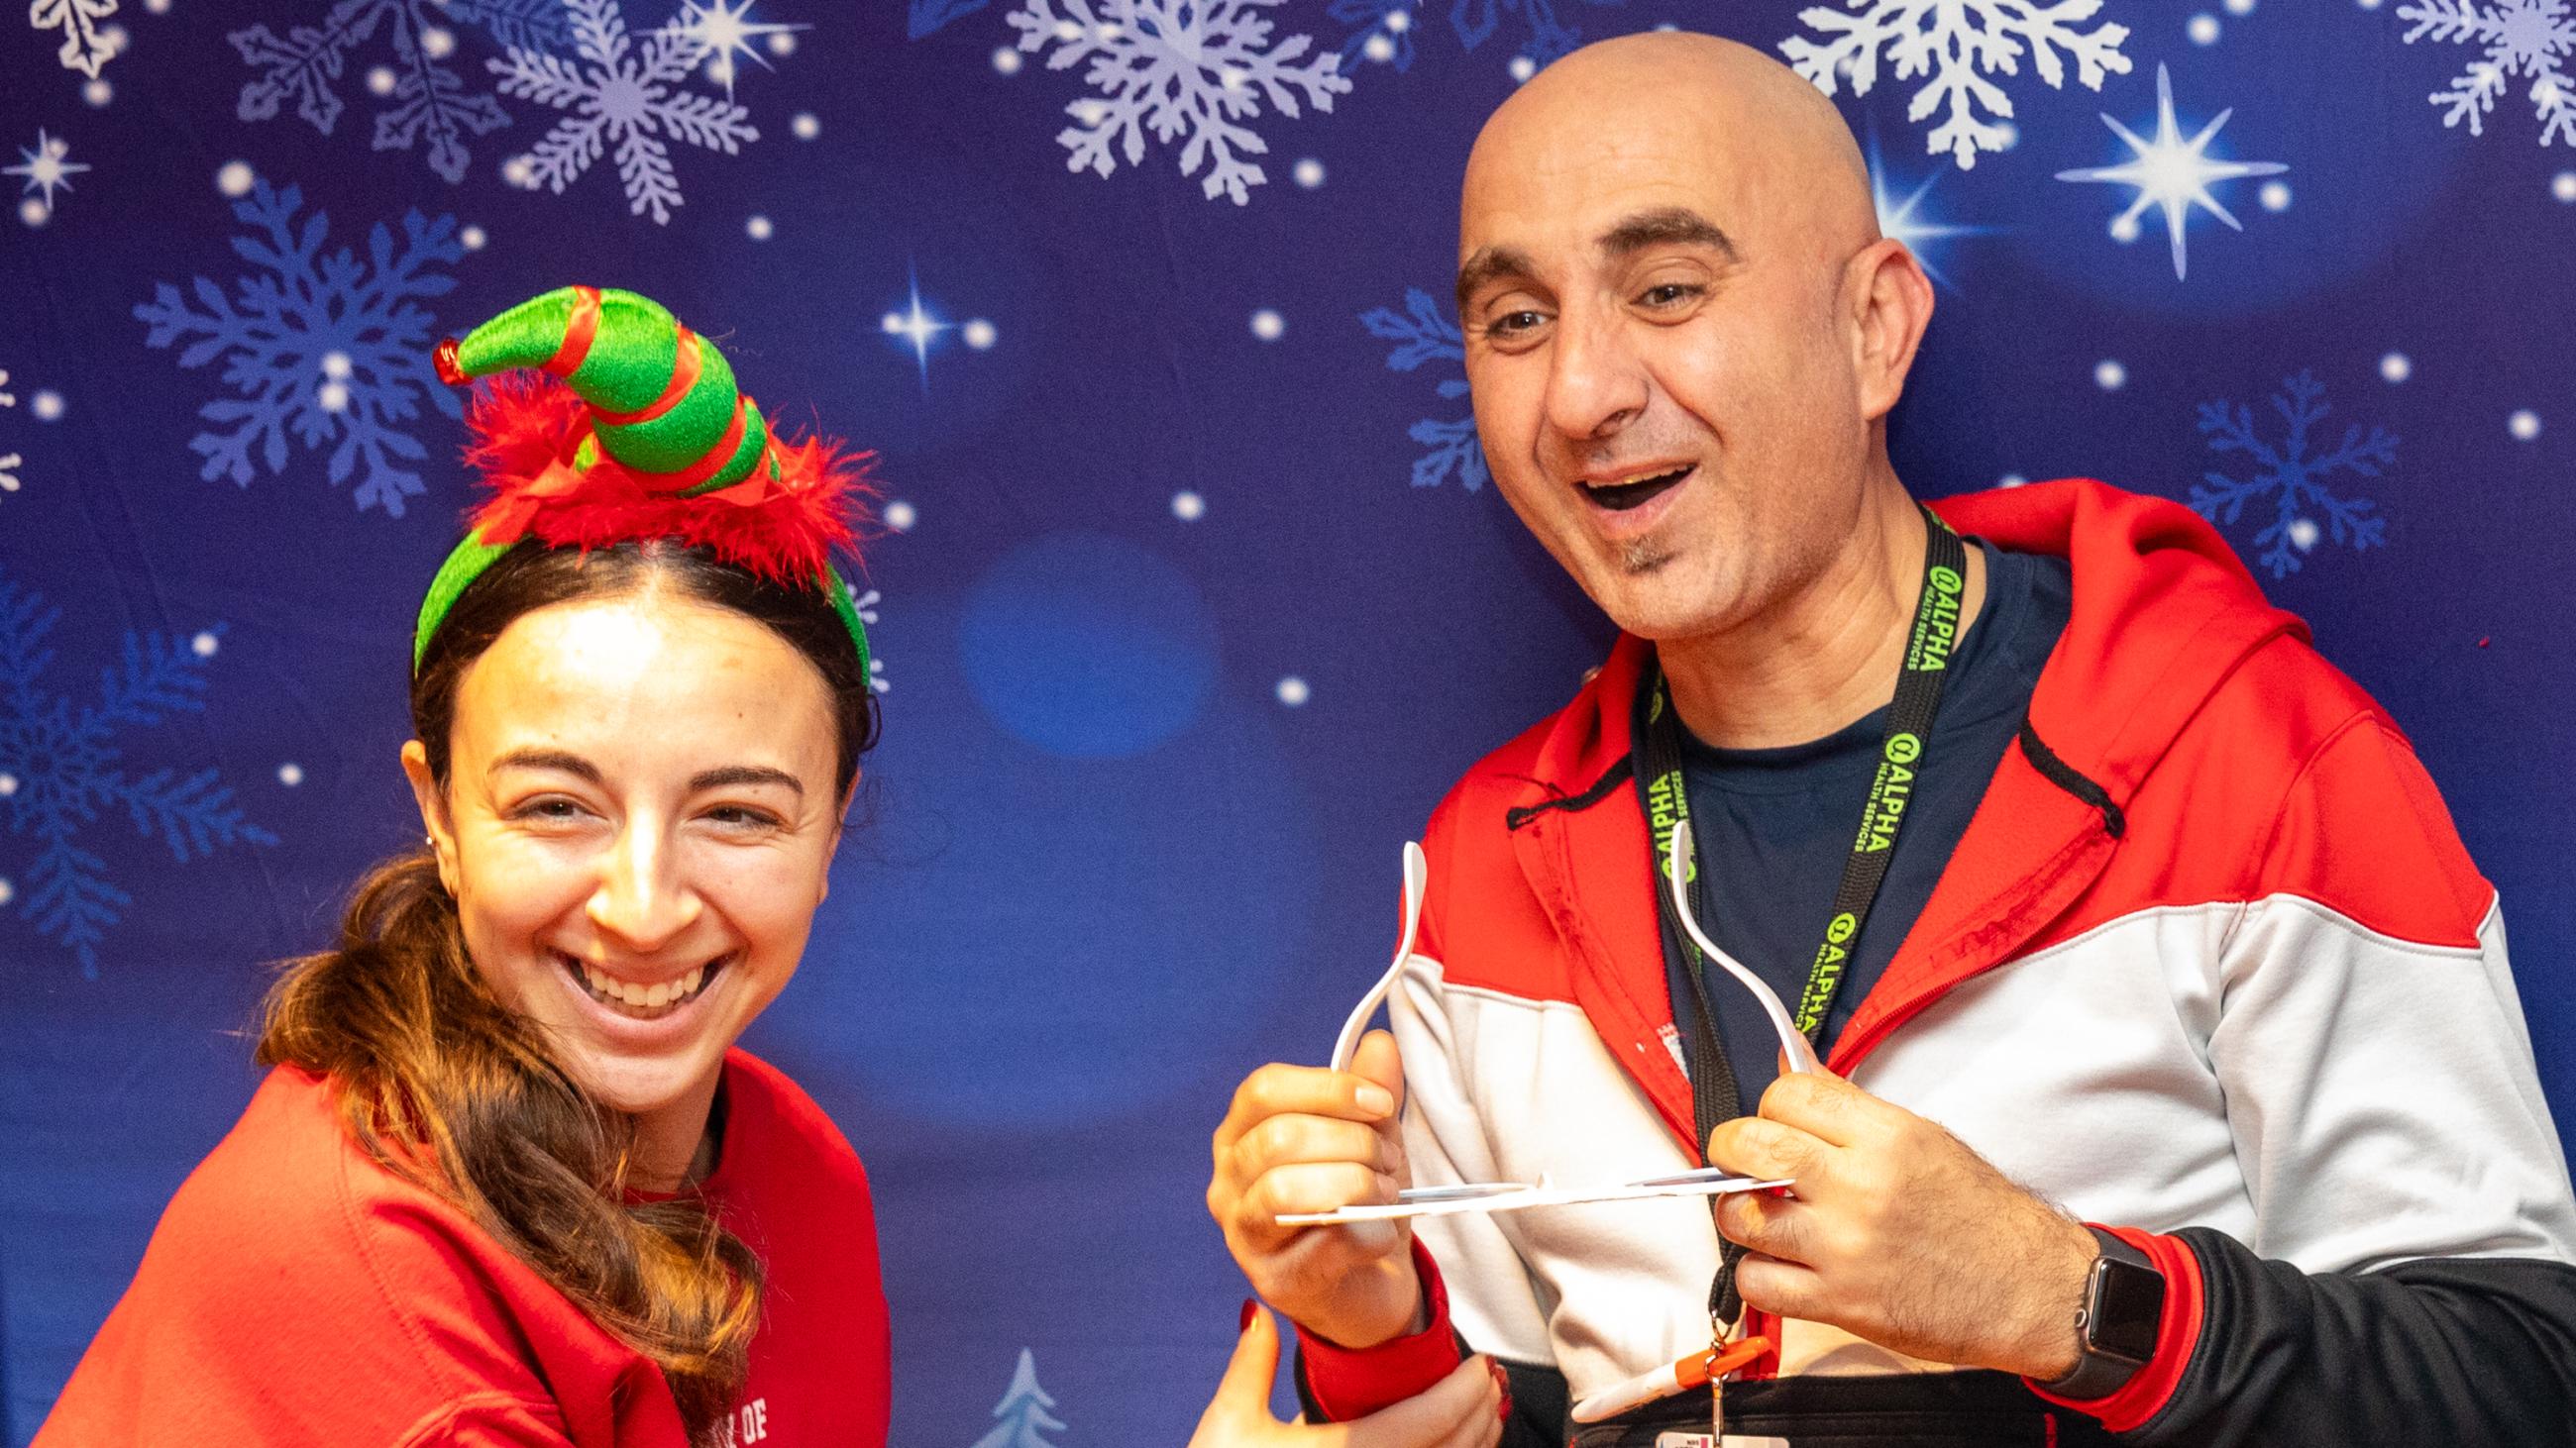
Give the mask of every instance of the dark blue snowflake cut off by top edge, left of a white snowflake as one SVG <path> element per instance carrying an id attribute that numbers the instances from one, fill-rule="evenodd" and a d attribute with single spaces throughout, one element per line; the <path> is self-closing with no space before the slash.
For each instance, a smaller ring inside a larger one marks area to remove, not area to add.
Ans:
<path id="1" fill-rule="evenodd" d="M 394 46 L 394 64 L 374 67 L 368 75 L 368 90 L 389 100 L 376 111 L 376 149 L 412 149 L 428 137 L 430 170 L 451 183 L 464 180 L 474 160 L 466 137 L 510 124 L 500 100 L 466 90 L 456 70 L 440 64 L 456 54 L 451 26 L 479 26 L 502 46 L 551 49 L 567 39 L 556 0 L 340 0 L 322 23 L 289 26 L 283 39 L 268 26 L 224 36 L 242 52 L 242 64 L 260 70 L 242 82 L 234 113 L 245 121 L 268 121 L 294 100 L 296 116 L 327 137 L 340 121 L 340 93 L 332 82 L 379 26 Z"/>

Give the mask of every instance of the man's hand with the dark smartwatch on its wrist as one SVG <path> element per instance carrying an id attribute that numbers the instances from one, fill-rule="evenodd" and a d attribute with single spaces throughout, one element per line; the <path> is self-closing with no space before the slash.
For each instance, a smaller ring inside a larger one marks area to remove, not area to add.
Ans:
<path id="1" fill-rule="evenodd" d="M 1798 1183 L 1718 1201 L 1747 1304 L 1909 1358 L 2074 1371 L 2092 1232 L 1932 1121 L 1821 1069 L 1783 1074 L 1759 1116 L 1708 1136 L 1708 1162 Z"/>

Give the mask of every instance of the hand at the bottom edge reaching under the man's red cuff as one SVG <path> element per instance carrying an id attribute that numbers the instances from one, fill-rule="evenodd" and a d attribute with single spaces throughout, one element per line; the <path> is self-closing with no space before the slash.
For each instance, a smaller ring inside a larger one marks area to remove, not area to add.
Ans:
<path id="1" fill-rule="evenodd" d="M 1280 1366 L 1278 1322 L 1244 1304 L 1244 1337 L 1234 1345 L 1216 1399 L 1198 1417 L 1190 1448 L 1494 1448 L 1510 1399 L 1492 1358 L 1468 1358 L 1430 1389 L 1358 1422 L 1280 1422 L 1270 1417 L 1270 1378 Z"/>

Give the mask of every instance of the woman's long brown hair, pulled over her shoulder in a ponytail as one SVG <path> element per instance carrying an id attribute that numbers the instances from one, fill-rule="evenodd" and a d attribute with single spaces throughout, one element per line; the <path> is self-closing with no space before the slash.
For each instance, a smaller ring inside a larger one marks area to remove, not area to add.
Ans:
<path id="1" fill-rule="evenodd" d="M 845 796 L 876 742 L 876 698 L 832 603 L 657 541 L 520 546 L 464 590 L 412 672 L 412 732 L 440 791 L 459 683 L 502 629 L 554 603 L 644 590 L 742 613 L 822 672 Z M 361 1149 L 453 1201 L 659 1363 L 690 1438 L 714 1440 L 760 1327 L 760 1260 L 696 1193 L 629 1201 L 631 1121 L 574 1085 L 484 987 L 430 850 L 368 873 L 340 943 L 289 961 L 263 1015 L 260 1064 L 327 1077 Z"/>

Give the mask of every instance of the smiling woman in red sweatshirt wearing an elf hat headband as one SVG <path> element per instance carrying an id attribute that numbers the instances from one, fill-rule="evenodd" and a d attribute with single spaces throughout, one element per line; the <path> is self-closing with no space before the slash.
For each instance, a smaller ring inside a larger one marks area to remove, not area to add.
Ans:
<path id="1" fill-rule="evenodd" d="M 876 739 L 832 564 L 863 459 L 773 435 L 631 291 L 536 296 L 438 371 L 489 379 L 492 495 L 412 636 L 425 845 L 268 992 L 273 1069 L 36 1443 L 881 1448 L 868 1177 L 734 1049 Z M 1494 1440 L 1484 1360 L 1293 1427 L 1275 1358 L 1244 1304 L 1193 1448 Z"/>

